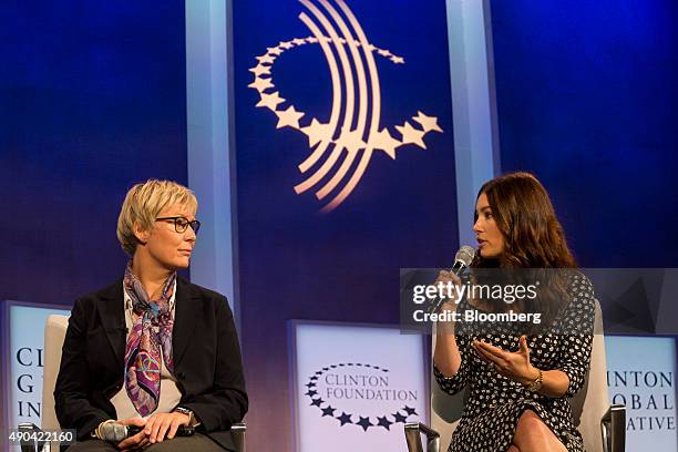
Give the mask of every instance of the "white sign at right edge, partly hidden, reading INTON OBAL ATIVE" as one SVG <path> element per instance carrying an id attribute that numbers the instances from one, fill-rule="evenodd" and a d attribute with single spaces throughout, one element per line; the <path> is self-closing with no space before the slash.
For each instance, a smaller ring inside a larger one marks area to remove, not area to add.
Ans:
<path id="1" fill-rule="evenodd" d="M 626 450 L 678 451 L 676 341 L 674 338 L 605 338 L 612 403 L 626 405 Z"/>

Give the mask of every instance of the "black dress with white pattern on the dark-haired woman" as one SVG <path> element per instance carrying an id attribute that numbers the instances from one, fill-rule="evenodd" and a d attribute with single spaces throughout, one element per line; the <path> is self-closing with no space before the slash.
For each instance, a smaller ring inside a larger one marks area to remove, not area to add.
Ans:
<path id="1" fill-rule="evenodd" d="M 582 387 L 589 368 L 595 300 L 590 281 L 579 273 L 571 279 L 571 302 L 556 317 L 549 329 L 527 336 L 530 360 L 542 370 L 562 370 L 569 378 L 569 388 L 562 398 L 531 393 L 521 383 L 497 373 L 471 347 L 473 338 L 504 350 L 518 349 L 520 333 L 510 325 L 494 326 L 492 333 L 479 333 L 477 323 L 456 322 L 456 343 L 461 367 L 452 377 L 435 367 L 440 388 L 454 394 L 469 386 L 469 398 L 461 421 L 452 435 L 452 452 L 503 452 L 511 446 L 518 418 L 533 410 L 569 452 L 583 452 L 582 435 L 573 424 L 569 399 Z M 474 309 L 462 300 L 458 311 Z"/>

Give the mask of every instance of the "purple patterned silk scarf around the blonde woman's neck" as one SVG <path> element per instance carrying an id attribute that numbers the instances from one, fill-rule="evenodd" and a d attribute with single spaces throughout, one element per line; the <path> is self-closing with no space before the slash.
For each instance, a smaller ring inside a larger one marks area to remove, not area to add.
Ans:
<path id="1" fill-rule="evenodd" d="M 157 408 L 162 360 L 174 371 L 172 359 L 172 329 L 174 320 L 170 298 L 174 292 L 176 273 L 170 275 L 157 300 L 150 300 L 144 286 L 132 273 L 132 263 L 125 269 L 125 291 L 132 299 L 134 321 L 127 336 L 125 350 L 125 388 L 136 411 L 145 417 Z M 162 353 L 162 356 L 161 356 Z"/>

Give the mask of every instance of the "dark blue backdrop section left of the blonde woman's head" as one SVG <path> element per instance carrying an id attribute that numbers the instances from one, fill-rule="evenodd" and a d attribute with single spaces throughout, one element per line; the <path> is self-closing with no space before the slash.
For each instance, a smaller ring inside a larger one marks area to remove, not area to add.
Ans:
<path id="1" fill-rule="evenodd" d="M 183 1 L 9 2 L 0 23 L 0 299 L 121 277 L 126 189 L 186 183 Z"/>

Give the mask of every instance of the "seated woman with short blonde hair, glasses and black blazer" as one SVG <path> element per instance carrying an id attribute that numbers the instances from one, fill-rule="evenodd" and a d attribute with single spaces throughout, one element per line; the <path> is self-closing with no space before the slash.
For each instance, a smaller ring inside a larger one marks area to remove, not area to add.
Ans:
<path id="1" fill-rule="evenodd" d="M 127 192 L 116 230 L 124 276 L 75 301 L 63 345 L 54 400 L 61 428 L 78 432 L 72 450 L 233 450 L 229 428 L 248 407 L 233 314 L 223 295 L 177 275 L 196 213 L 176 182 Z M 138 432 L 121 440 L 113 424 Z"/>

